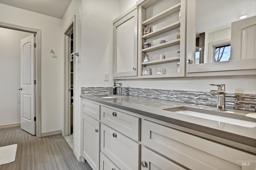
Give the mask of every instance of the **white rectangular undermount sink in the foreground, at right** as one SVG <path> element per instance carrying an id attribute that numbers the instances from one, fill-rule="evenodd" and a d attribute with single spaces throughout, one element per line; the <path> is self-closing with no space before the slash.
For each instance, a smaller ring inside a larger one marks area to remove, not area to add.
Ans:
<path id="1" fill-rule="evenodd" d="M 243 126 L 243 127 L 256 127 L 256 119 L 246 117 L 245 115 L 250 113 L 248 111 L 239 110 L 208 110 L 194 107 L 174 107 L 163 109 L 166 111 L 171 111 L 175 113 L 180 113 L 184 115 L 190 115 L 194 117 L 200 117 L 204 119 L 210 119 L 214 121 L 219 121 L 223 123 L 229 123 L 233 125 Z"/>

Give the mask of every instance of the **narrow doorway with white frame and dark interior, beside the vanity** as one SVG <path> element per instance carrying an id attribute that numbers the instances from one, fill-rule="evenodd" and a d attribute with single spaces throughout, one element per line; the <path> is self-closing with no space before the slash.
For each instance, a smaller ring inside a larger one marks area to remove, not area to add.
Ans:
<path id="1" fill-rule="evenodd" d="M 75 29 L 70 21 L 64 32 L 64 138 L 73 149 L 74 139 L 74 78 L 75 78 Z"/>

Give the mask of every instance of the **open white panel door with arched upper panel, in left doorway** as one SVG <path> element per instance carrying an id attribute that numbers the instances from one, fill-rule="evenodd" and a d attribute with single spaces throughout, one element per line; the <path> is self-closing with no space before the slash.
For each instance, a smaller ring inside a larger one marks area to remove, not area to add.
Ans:
<path id="1" fill-rule="evenodd" d="M 32 135 L 36 135 L 35 39 L 30 35 L 20 41 L 20 128 Z"/>

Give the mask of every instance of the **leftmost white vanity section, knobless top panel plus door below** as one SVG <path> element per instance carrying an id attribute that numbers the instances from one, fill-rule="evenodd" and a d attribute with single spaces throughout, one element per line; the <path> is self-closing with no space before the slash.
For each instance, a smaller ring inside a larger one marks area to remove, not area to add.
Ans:
<path id="1" fill-rule="evenodd" d="M 91 116 L 100 115 L 100 106 L 82 100 L 81 149 L 82 156 L 93 170 L 100 169 L 100 121 Z M 96 117 L 98 117 L 96 116 Z"/>

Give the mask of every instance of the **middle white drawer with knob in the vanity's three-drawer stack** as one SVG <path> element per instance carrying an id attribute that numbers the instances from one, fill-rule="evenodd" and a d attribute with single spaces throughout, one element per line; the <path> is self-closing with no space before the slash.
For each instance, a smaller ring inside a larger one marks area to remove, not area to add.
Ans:
<path id="1" fill-rule="evenodd" d="M 102 124 L 101 152 L 122 170 L 138 170 L 140 144 Z"/>

